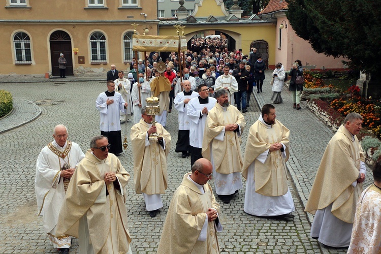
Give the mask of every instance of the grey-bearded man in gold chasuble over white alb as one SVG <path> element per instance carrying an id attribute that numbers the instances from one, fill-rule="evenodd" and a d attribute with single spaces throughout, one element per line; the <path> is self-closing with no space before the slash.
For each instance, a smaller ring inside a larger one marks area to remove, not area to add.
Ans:
<path id="1" fill-rule="evenodd" d="M 241 112 L 230 105 L 228 92 L 215 92 L 217 103 L 206 118 L 202 156 L 211 161 L 218 197 L 229 203 L 242 188 L 241 140 L 246 121 Z"/>

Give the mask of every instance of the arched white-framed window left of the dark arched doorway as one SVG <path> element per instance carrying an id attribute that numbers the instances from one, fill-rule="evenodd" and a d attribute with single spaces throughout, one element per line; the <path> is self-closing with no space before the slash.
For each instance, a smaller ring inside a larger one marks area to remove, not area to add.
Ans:
<path id="1" fill-rule="evenodd" d="M 31 63 L 30 38 L 20 32 L 13 37 L 16 63 Z"/>

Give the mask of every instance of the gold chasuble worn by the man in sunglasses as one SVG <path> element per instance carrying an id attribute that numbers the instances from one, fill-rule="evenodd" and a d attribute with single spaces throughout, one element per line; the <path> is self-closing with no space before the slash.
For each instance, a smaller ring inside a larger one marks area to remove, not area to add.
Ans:
<path id="1" fill-rule="evenodd" d="M 130 175 L 114 154 L 109 153 L 105 160 L 99 160 L 90 152 L 86 152 L 74 171 L 59 213 L 56 232 L 77 237 L 80 241 L 89 237 L 94 253 L 126 253 L 131 238 L 127 227 L 124 188 Z M 107 186 L 104 181 L 106 172 L 115 172 L 117 177 Z M 84 230 L 88 230 L 87 236 L 79 233 L 83 230 L 79 226 L 83 218 L 86 218 L 87 228 Z"/>

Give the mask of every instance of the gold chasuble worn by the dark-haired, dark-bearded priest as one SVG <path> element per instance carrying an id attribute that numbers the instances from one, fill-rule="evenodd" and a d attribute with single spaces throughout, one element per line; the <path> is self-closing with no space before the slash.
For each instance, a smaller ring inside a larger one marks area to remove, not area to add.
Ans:
<path id="1" fill-rule="evenodd" d="M 251 125 L 243 159 L 242 176 L 247 179 L 247 169 L 251 163 L 254 163 L 256 193 L 276 197 L 288 192 L 285 162 L 290 155 L 289 137 L 289 129 L 278 120 L 275 120 L 275 123 L 270 126 L 260 120 Z M 265 163 L 256 160 L 258 155 L 268 150 L 274 143 L 285 145 L 285 158 L 282 157 L 280 150 L 276 150 L 268 153 Z"/>

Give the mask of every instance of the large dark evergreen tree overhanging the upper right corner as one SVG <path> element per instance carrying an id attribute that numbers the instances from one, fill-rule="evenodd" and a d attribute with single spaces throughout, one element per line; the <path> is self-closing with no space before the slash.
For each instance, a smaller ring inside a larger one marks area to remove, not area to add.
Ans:
<path id="1" fill-rule="evenodd" d="M 295 33 L 317 53 L 344 56 L 366 73 L 381 68 L 381 0 L 286 0 Z"/>

